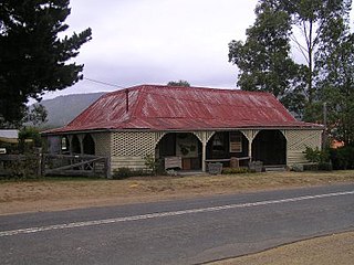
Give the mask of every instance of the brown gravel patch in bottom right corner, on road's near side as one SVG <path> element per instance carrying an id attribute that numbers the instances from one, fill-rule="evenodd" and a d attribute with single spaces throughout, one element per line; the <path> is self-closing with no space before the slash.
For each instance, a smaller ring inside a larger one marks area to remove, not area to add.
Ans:
<path id="1" fill-rule="evenodd" d="M 348 232 L 301 241 L 210 265 L 352 265 L 353 261 L 354 232 Z"/>

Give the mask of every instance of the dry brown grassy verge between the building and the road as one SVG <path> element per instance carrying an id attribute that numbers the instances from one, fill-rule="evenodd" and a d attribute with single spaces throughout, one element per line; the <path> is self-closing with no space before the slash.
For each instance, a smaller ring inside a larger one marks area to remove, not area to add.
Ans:
<path id="1" fill-rule="evenodd" d="M 354 171 L 152 177 L 128 180 L 0 181 L 0 214 L 116 205 L 354 182 Z"/>

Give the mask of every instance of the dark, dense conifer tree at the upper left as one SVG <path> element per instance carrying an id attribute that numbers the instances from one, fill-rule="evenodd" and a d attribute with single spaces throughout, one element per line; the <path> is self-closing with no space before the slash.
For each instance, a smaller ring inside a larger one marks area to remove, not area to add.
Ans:
<path id="1" fill-rule="evenodd" d="M 69 14 L 69 0 L 0 2 L 0 124 L 19 123 L 29 98 L 82 78 L 83 65 L 67 62 L 91 40 L 91 29 L 60 38 Z"/>

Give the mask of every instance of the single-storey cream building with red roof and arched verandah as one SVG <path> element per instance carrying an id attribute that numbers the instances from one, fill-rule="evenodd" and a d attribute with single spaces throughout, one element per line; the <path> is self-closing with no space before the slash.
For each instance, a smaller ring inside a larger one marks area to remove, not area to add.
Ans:
<path id="1" fill-rule="evenodd" d="M 322 130 L 296 120 L 269 93 L 140 85 L 103 95 L 44 136 L 51 152 L 108 157 L 111 171 L 145 168 L 146 155 L 205 171 L 207 162 L 231 158 L 304 163 L 306 147 L 321 148 Z"/>

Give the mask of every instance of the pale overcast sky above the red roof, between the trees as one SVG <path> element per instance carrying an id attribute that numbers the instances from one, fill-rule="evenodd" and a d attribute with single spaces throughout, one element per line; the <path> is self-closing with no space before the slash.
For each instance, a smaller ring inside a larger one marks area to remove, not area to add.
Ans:
<path id="1" fill-rule="evenodd" d="M 111 92 L 184 80 L 192 86 L 236 88 L 228 43 L 246 40 L 257 0 L 71 0 L 65 34 L 91 28 L 74 62 L 83 80 L 65 94 Z M 100 81 L 107 86 L 92 82 Z"/>

